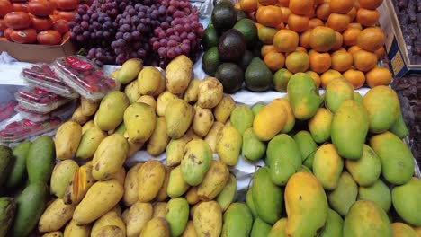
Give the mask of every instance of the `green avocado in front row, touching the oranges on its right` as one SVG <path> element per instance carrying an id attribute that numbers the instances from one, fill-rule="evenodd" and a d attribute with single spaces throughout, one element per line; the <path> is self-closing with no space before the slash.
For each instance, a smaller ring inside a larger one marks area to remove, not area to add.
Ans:
<path id="1" fill-rule="evenodd" d="M 245 73 L 246 88 L 252 92 L 264 92 L 271 88 L 273 75 L 264 61 L 254 57 Z"/>

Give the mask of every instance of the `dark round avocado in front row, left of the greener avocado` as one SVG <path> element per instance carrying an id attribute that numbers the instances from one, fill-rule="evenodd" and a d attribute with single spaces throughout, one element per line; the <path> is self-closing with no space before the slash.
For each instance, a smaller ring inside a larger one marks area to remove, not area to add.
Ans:
<path id="1" fill-rule="evenodd" d="M 244 82 L 244 72 L 233 63 L 223 63 L 218 67 L 215 77 L 222 83 L 224 92 L 234 93 L 241 89 Z"/>

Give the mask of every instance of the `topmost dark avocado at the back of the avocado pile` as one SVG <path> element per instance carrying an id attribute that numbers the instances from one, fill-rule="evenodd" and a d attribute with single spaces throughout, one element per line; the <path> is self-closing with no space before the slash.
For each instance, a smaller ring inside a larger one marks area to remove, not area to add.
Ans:
<path id="1" fill-rule="evenodd" d="M 222 0 L 213 8 L 211 18 L 215 29 L 223 32 L 231 29 L 237 22 L 237 12 L 230 1 Z"/>

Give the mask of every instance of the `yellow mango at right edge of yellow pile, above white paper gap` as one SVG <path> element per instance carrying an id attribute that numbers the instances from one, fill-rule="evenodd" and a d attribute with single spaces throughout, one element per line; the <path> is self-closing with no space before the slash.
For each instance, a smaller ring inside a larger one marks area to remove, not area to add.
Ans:
<path id="1" fill-rule="evenodd" d="M 242 143 L 243 139 L 236 127 L 222 127 L 216 143 L 216 152 L 219 155 L 219 159 L 227 165 L 236 165 Z"/>

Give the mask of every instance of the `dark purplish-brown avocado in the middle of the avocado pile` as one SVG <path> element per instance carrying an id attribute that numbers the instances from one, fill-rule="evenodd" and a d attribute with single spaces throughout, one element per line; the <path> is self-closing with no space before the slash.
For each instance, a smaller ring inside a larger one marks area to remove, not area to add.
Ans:
<path id="1" fill-rule="evenodd" d="M 236 62 L 244 56 L 246 51 L 244 35 L 235 29 L 226 31 L 219 39 L 218 51 L 222 60 Z"/>

